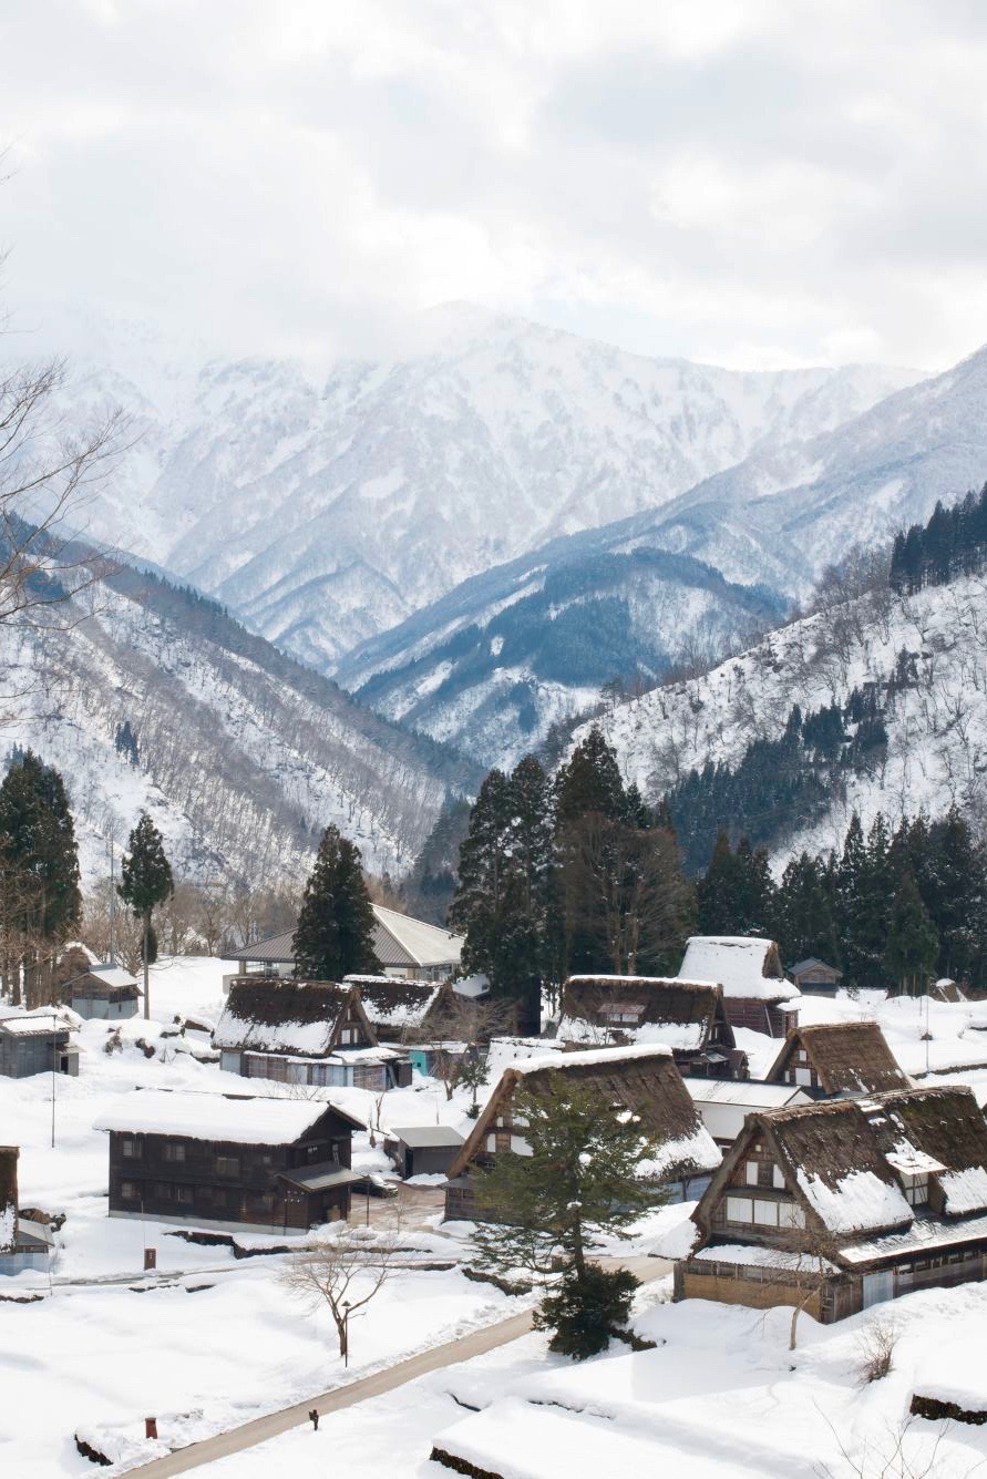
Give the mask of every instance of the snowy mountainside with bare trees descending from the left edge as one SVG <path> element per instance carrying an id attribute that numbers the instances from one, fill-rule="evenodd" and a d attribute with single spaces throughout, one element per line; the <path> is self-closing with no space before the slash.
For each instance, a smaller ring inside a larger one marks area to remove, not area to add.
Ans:
<path id="1" fill-rule="evenodd" d="M 373 870 L 405 868 L 450 790 L 476 771 L 346 698 L 204 602 L 132 569 L 0 629 L 3 741 L 70 788 L 87 879 L 141 808 L 181 874 L 300 880 L 336 822 Z M 115 748 L 129 722 L 139 763 Z"/>

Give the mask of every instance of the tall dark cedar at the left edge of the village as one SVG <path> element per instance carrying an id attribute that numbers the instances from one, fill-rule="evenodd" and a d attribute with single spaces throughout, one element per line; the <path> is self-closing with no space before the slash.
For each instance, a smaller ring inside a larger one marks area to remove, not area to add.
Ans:
<path id="1" fill-rule="evenodd" d="M 50 952 L 81 914 L 78 850 L 65 785 L 31 750 L 15 757 L 0 785 L 0 873 L 7 984 L 24 966 L 28 1006 L 50 991 Z M 46 961 L 47 957 L 47 961 Z"/>

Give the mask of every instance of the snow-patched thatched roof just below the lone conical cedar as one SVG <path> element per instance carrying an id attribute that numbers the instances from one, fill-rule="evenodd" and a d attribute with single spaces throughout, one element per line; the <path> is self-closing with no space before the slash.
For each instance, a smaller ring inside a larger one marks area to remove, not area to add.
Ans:
<path id="1" fill-rule="evenodd" d="M 253 1053 L 324 1057 L 337 1044 L 346 1018 L 358 1018 L 366 1041 L 377 1046 L 355 986 L 283 976 L 238 976 L 213 1032 L 213 1046 Z"/>

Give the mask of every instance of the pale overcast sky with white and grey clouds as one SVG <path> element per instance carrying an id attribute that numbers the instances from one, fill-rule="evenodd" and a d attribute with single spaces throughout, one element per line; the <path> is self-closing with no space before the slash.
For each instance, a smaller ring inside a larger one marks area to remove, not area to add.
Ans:
<path id="1" fill-rule="evenodd" d="M 374 351 L 448 299 L 654 355 L 987 340 L 981 0 L 3 0 L 15 321 Z"/>

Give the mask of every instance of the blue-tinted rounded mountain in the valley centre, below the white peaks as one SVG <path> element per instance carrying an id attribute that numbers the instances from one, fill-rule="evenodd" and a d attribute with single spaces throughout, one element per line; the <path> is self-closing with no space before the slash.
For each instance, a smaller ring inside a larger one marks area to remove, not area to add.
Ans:
<path id="1" fill-rule="evenodd" d="M 781 615 L 769 592 L 607 527 L 475 575 L 355 648 L 337 677 L 379 713 L 509 765 L 613 679 L 650 686 L 672 664 L 709 664 Z"/>

